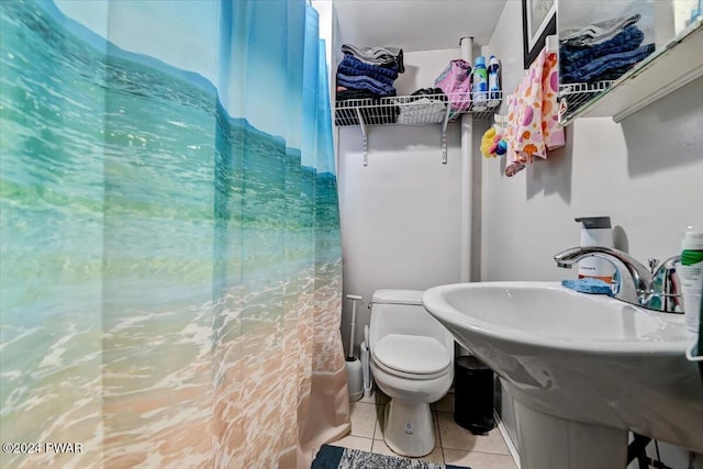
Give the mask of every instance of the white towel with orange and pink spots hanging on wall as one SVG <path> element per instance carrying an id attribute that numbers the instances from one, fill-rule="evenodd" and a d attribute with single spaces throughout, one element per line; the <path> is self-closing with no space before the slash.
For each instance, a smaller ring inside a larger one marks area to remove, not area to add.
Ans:
<path id="1" fill-rule="evenodd" d="M 534 157 L 547 158 L 547 150 L 563 146 L 558 123 L 557 54 L 545 48 L 525 74 L 517 91 L 509 97 L 507 157 L 505 176 L 513 176 Z"/>

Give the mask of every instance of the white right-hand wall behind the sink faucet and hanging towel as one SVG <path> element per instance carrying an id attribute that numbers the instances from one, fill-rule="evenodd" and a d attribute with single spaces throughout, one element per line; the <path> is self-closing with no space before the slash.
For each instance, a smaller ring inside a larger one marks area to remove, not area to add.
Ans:
<path id="1" fill-rule="evenodd" d="M 507 92 L 523 70 L 521 35 L 506 32 L 521 31 L 521 3 L 506 2 L 483 48 L 502 59 Z M 578 245 L 573 217 L 581 215 L 610 215 L 617 247 L 641 261 L 678 254 L 683 228 L 703 226 L 702 130 L 699 78 L 621 124 L 578 119 L 565 148 L 512 178 L 504 161 L 483 160 L 482 280 L 574 278 L 576 269 L 558 269 L 551 257 Z M 667 465 L 688 467 L 684 451 L 669 454 Z"/>

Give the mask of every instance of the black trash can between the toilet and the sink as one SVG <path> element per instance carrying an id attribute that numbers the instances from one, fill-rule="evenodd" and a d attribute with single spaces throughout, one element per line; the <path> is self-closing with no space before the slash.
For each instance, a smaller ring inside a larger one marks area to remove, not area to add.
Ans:
<path id="1" fill-rule="evenodd" d="M 454 421 L 473 434 L 489 432 L 493 420 L 493 370 L 476 357 L 457 357 Z"/>

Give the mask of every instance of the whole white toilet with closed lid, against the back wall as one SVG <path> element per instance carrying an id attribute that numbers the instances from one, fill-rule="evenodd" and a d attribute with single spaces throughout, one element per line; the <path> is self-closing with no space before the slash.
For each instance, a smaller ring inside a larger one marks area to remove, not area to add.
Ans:
<path id="1" fill-rule="evenodd" d="M 383 428 L 389 448 L 425 456 L 435 447 L 429 404 L 454 379 L 454 339 L 422 305 L 422 291 L 377 290 L 371 300 L 371 371 L 391 398 Z"/>

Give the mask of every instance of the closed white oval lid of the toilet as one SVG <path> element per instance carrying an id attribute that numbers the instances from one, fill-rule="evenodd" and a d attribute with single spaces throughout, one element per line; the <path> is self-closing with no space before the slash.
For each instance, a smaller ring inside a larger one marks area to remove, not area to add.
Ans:
<path id="1" fill-rule="evenodd" d="M 451 362 L 446 348 L 434 337 L 389 334 L 371 350 L 376 359 L 389 368 L 415 375 L 445 370 Z"/>

